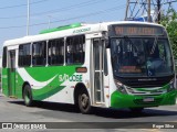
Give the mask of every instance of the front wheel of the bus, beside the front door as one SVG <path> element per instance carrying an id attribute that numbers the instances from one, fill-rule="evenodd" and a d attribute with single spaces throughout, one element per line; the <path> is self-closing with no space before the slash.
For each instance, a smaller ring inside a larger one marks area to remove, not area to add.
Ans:
<path id="1" fill-rule="evenodd" d="M 85 90 L 79 94 L 79 108 L 80 111 L 84 114 L 91 113 L 91 101 Z"/>

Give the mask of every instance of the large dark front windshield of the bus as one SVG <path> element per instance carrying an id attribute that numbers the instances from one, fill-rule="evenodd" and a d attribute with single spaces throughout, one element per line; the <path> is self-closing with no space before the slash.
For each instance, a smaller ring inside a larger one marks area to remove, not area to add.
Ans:
<path id="1" fill-rule="evenodd" d="M 113 73 L 115 76 L 168 76 L 174 72 L 167 38 L 111 38 Z"/>

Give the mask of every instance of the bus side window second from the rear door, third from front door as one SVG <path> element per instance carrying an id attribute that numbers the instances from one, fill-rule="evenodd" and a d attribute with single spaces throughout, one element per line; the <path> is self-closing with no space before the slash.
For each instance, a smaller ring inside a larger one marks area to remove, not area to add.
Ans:
<path id="1" fill-rule="evenodd" d="M 46 64 L 46 42 L 34 42 L 32 45 L 32 65 L 44 66 Z"/>

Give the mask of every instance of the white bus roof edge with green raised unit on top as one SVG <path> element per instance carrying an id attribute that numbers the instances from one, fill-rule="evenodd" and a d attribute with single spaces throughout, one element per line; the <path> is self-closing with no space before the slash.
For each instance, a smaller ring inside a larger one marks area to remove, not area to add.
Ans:
<path id="1" fill-rule="evenodd" d="M 147 23 L 147 22 L 134 22 L 134 21 L 117 21 L 117 22 L 101 22 L 95 24 L 75 24 L 75 26 L 65 25 L 60 26 L 58 30 L 44 30 L 41 34 L 38 35 L 29 35 L 20 38 L 9 40 L 3 43 L 3 46 L 10 45 L 19 45 L 25 43 L 32 43 L 37 41 L 48 41 L 52 38 L 65 37 L 71 35 L 80 35 L 80 34 L 90 34 L 96 33 L 102 31 L 107 31 L 107 25 L 111 24 L 146 24 L 146 25 L 158 25 L 155 23 Z M 74 24 L 73 24 L 74 25 Z"/>

